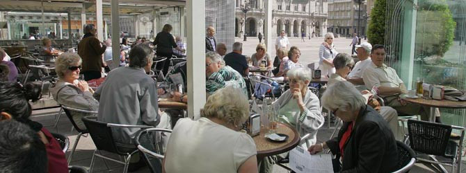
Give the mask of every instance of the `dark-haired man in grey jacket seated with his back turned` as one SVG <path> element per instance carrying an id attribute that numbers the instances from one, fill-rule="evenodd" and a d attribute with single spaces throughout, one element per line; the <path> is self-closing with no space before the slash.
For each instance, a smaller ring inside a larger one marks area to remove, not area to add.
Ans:
<path id="1" fill-rule="evenodd" d="M 146 44 L 131 48 L 129 66 L 114 69 L 105 82 L 94 93 L 99 104 L 97 120 L 122 125 L 159 124 L 158 95 L 156 84 L 145 74 L 147 66 L 152 65 L 152 50 Z M 150 69 L 150 68 L 149 68 Z M 120 151 L 134 149 L 138 128 L 117 128 L 113 138 Z M 131 168 L 131 166 L 130 166 Z"/>

